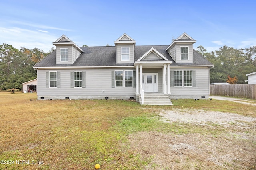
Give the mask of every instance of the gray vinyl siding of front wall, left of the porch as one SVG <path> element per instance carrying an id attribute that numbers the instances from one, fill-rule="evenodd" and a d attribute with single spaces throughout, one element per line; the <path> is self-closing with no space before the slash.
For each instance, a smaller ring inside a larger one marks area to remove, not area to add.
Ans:
<path id="1" fill-rule="evenodd" d="M 46 72 L 56 70 L 38 69 L 38 96 L 135 96 L 135 87 L 112 88 L 112 71 L 132 70 L 135 68 L 111 69 L 60 69 L 60 87 L 46 88 Z M 85 88 L 71 87 L 71 74 L 73 71 L 85 72 Z M 135 79 L 135 76 L 134 76 Z"/>

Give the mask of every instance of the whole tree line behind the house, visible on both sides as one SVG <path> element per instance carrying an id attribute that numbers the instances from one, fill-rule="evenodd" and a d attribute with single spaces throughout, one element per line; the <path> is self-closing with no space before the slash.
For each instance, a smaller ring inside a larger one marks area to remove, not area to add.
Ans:
<path id="1" fill-rule="evenodd" d="M 0 45 L 0 90 L 22 89 L 22 83 L 36 78 L 33 66 L 52 51 L 54 48 L 44 52 L 38 48 L 21 47 L 18 50 L 12 45 Z M 245 74 L 256 72 L 256 46 L 234 49 L 224 45 L 210 53 L 199 46 L 196 51 L 214 64 L 210 68 L 210 83 L 228 81 L 232 84 L 246 84 Z"/>

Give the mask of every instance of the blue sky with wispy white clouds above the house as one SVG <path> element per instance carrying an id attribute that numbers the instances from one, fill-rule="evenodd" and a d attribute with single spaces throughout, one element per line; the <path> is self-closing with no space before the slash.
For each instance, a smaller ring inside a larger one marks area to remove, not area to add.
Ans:
<path id="1" fill-rule="evenodd" d="M 186 32 L 208 52 L 256 46 L 254 0 L 0 0 L 0 45 L 48 52 L 63 34 L 78 46 L 170 45 Z"/>

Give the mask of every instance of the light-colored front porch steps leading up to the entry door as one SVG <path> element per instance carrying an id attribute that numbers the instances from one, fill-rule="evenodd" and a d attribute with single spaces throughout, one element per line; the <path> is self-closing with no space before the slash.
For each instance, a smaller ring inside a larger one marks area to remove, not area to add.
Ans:
<path id="1" fill-rule="evenodd" d="M 141 96 L 139 99 L 140 104 L 142 104 Z M 170 96 L 144 96 L 145 105 L 172 105 Z"/>

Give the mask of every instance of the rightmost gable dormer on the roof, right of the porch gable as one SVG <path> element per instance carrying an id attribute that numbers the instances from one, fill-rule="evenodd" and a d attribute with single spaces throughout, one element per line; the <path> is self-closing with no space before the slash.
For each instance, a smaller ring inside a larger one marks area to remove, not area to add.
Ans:
<path id="1" fill-rule="evenodd" d="M 165 50 L 176 63 L 193 63 L 193 44 L 196 42 L 187 33 L 175 39 Z"/>

